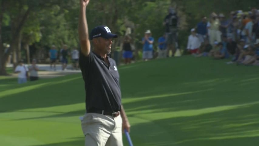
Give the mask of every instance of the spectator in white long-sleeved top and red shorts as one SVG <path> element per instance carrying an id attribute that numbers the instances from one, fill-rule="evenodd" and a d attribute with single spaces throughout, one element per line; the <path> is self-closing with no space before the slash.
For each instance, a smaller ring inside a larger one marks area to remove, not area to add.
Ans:
<path id="1" fill-rule="evenodd" d="M 187 44 L 187 50 L 191 54 L 198 54 L 199 53 L 199 47 L 201 45 L 201 42 L 195 32 L 195 29 L 191 29 L 191 35 L 188 37 L 188 44 Z"/>

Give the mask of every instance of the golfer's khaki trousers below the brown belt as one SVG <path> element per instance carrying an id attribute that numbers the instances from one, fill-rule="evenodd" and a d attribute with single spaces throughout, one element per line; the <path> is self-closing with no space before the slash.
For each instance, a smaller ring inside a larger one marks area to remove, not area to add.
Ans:
<path id="1" fill-rule="evenodd" d="M 98 113 L 86 113 L 81 126 L 85 146 L 123 146 L 121 116 L 112 117 Z"/>

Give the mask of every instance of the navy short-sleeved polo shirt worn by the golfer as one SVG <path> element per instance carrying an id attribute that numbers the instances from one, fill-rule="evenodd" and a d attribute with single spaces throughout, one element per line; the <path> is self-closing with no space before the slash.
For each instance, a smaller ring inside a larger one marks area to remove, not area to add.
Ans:
<path id="1" fill-rule="evenodd" d="M 121 89 L 119 72 L 115 61 L 104 58 L 90 51 L 85 56 L 80 51 L 79 65 L 85 83 L 86 110 L 105 110 L 117 112 L 121 110 Z"/>

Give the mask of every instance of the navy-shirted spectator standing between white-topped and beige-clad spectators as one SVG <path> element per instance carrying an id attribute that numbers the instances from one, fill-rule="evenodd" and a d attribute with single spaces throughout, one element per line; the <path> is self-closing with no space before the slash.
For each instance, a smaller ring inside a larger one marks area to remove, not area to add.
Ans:
<path id="1" fill-rule="evenodd" d="M 207 24 L 207 17 L 203 16 L 201 22 L 196 26 L 196 33 L 199 35 L 201 43 L 203 43 L 208 36 Z"/>

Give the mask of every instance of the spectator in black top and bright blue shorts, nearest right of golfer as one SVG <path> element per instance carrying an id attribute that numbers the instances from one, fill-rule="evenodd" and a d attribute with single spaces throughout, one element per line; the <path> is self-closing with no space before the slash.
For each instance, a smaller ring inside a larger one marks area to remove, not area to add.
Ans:
<path id="1" fill-rule="evenodd" d="M 123 58 L 125 64 L 131 63 L 131 58 L 133 57 L 132 50 L 131 50 L 131 37 L 126 35 L 123 40 Z"/>

